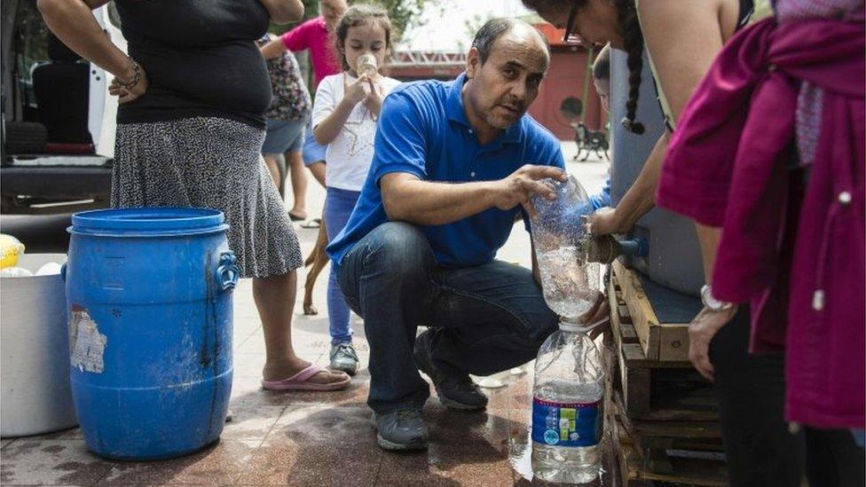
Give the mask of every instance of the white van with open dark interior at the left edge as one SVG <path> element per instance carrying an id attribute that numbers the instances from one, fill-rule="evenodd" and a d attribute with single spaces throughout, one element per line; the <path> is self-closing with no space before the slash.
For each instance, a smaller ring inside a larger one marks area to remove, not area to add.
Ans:
<path id="1" fill-rule="evenodd" d="M 3 0 L 0 195 L 4 213 L 108 204 L 117 98 L 111 75 L 51 34 L 35 0 Z M 126 50 L 114 4 L 93 11 Z"/>

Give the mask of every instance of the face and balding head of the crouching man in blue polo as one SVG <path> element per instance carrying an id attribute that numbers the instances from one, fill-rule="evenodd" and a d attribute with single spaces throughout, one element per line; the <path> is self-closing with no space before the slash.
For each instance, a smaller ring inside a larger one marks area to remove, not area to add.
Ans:
<path id="1" fill-rule="evenodd" d="M 476 49 L 469 51 L 468 108 L 492 128 L 507 129 L 539 96 L 548 63 L 547 48 L 539 35 L 521 27 L 500 35 L 484 64 Z"/>

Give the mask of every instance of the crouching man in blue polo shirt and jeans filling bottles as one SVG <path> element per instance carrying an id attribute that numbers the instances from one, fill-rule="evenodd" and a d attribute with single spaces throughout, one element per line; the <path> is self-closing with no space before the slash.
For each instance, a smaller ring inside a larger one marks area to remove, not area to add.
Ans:
<path id="1" fill-rule="evenodd" d="M 535 357 L 558 318 L 533 270 L 494 260 L 540 180 L 565 179 L 559 142 L 526 109 L 550 53 L 520 20 L 491 20 L 453 82 L 414 82 L 382 106 L 373 165 L 345 229 L 327 247 L 370 343 L 379 444 L 425 448 L 421 406 L 484 409 L 469 373 Z M 416 328 L 428 330 L 415 339 Z"/>

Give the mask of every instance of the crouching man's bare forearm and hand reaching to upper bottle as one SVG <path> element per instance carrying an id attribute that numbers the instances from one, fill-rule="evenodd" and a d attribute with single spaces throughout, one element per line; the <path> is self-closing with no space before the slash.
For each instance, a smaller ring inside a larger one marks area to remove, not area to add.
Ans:
<path id="1" fill-rule="evenodd" d="M 566 178 L 562 169 L 526 165 L 504 179 L 479 183 L 447 184 L 422 181 L 413 174 L 390 173 L 382 177 L 382 203 L 391 220 L 410 224 L 451 224 L 485 209 L 511 209 L 523 205 L 534 216 L 532 193 L 555 198 L 539 179 Z"/>

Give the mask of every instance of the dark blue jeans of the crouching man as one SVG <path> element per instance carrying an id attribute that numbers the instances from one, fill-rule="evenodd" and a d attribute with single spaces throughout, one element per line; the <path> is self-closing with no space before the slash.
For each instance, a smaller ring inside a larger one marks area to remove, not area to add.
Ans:
<path id="1" fill-rule="evenodd" d="M 342 259 L 346 302 L 364 318 L 370 343 L 370 397 L 383 414 L 421 409 L 429 386 L 413 361 L 417 326 L 429 326 L 437 367 L 488 375 L 522 365 L 558 325 L 531 271 L 494 261 L 463 269 L 437 266 L 411 224 L 377 227 Z"/>

